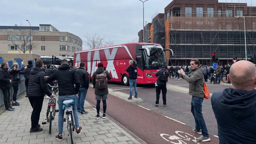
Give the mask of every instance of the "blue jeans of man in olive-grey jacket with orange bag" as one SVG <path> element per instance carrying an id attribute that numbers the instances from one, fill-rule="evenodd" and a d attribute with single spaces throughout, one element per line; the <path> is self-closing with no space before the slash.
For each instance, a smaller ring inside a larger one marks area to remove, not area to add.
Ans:
<path id="1" fill-rule="evenodd" d="M 207 127 L 204 122 L 204 117 L 202 114 L 202 102 L 204 98 L 192 96 L 191 100 L 191 112 L 195 118 L 196 130 L 202 129 L 202 135 L 209 137 Z"/>

